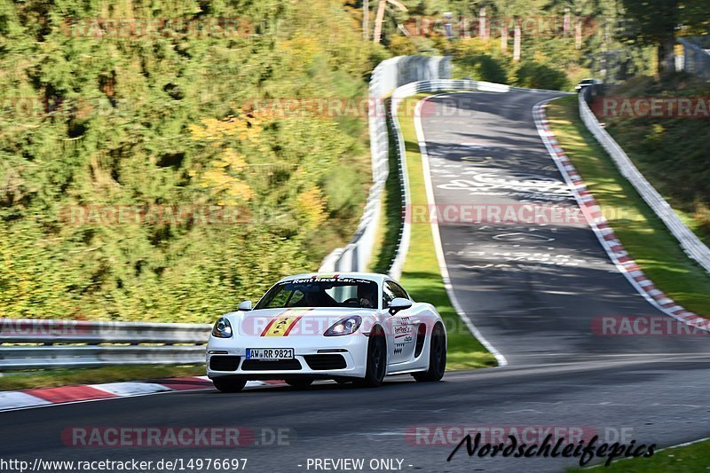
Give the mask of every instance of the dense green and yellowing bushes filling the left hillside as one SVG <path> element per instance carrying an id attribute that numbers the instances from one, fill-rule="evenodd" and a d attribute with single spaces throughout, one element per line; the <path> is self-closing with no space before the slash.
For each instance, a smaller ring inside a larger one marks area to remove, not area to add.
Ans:
<path id="1" fill-rule="evenodd" d="M 164 17 L 208 33 L 95 20 Z M 384 55 L 335 0 L 2 4 L 0 317 L 208 321 L 316 269 L 361 214 L 366 118 L 253 104 L 357 100 Z M 72 217 L 127 205 L 245 218 Z"/>

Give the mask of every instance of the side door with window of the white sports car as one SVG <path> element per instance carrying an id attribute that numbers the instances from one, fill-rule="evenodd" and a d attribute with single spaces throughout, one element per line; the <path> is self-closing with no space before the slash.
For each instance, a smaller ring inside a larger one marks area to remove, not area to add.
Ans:
<path id="1" fill-rule="evenodd" d="M 396 282 L 385 280 L 383 283 L 383 309 L 390 308 L 390 302 L 395 297 L 409 299 L 406 291 Z M 410 310 L 398 311 L 388 319 L 388 347 L 390 363 L 403 363 L 414 355 L 414 321 Z"/>

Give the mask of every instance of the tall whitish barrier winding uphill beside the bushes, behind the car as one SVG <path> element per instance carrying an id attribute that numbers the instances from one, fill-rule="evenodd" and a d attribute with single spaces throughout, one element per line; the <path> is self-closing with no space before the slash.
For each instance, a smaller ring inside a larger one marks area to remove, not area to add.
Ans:
<path id="1" fill-rule="evenodd" d="M 374 106 L 369 111 L 373 185 L 351 242 L 326 256 L 319 271 L 366 271 L 375 247 L 382 212 L 382 192 L 389 174 L 390 141 L 385 100 L 404 83 L 448 76 L 450 71 L 450 59 L 440 56 L 399 56 L 384 60 L 375 67 L 369 86 L 369 103 Z M 402 236 L 400 233 L 400 243 Z"/>

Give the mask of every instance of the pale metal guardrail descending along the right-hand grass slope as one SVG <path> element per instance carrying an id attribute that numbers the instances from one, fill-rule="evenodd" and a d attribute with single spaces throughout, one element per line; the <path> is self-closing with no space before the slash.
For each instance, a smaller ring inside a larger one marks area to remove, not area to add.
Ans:
<path id="1" fill-rule="evenodd" d="M 582 122 L 587 126 L 588 130 L 594 135 L 596 141 L 604 147 L 606 152 L 611 156 L 611 160 L 616 164 L 619 172 L 623 177 L 634 185 L 636 191 L 641 195 L 643 201 L 646 201 L 649 207 L 667 226 L 668 230 L 673 233 L 675 239 L 681 244 L 681 248 L 685 253 L 698 262 L 706 272 L 710 272 L 710 248 L 698 238 L 698 235 L 693 233 L 690 228 L 682 223 L 678 214 L 671 208 L 668 202 L 656 191 L 656 189 L 643 177 L 643 174 L 636 169 L 632 162 L 619 144 L 611 138 L 611 135 L 602 128 L 602 125 L 596 120 L 596 116 L 592 113 L 587 105 L 584 97 L 586 94 L 580 94 L 580 117 Z"/>

